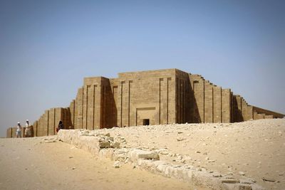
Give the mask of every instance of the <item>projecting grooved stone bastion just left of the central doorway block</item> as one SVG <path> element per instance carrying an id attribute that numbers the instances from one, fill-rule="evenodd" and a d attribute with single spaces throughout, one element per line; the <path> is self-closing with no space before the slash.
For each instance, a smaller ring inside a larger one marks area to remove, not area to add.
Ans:
<path id="1" fill-rule="evenodd" d="M 84 85 L 78 89 L 76 99 L 71 102 L 71 126 L 75 129 L 94 130 L 113 127 L 110 115 L 114 97 L 108 78 L 84 78 Z"/>

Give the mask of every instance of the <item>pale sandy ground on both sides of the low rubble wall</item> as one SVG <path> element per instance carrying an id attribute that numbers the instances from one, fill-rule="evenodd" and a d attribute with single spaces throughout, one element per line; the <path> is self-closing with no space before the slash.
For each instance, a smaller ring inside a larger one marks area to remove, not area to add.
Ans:
<path id="1" fill-rule="evenodd" d="M 121 147 L 152 149 L 172 164 L 246 177 L 266 189 L 285 189 L 285 120 L 232 124 L 152 125 L 97 130 Z M 0 189 L 202 189 L 177 179 L 94 157 L 45 137 L 0 139 Z"/>

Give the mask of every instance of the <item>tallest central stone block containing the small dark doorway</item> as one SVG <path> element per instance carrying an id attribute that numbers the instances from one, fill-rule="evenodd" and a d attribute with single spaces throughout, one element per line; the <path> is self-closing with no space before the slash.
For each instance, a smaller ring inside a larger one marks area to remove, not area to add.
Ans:
<path id="1" fill-rule="evenodd" d="M 185 82 L 177 80 L 176 76 L 175 69 L 119 73 L 111 87 L 117 95 L 114 97 L 117 125 L 143 125 L 144 120 L 149 120 L 150 125 L 177 122 L 176 116 L 183 114 L 182 110 L 177 111 L 175 92 L 180 86 L 176 83 L 183 85 Z M 181 103 L 182 96 L 178 101 Z"/>

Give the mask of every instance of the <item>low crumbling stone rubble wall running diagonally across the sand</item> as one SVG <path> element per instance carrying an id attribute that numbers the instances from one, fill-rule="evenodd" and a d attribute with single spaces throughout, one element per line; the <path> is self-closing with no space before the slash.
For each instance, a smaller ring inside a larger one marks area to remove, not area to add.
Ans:
<path id="1" fill-rule="evenodd" d="M 212 189 L 256 189 L 261 190 L 252 179 L 234 179 L 231 175 L 222 175 L 217 171 L 197 169 L 187 164 L 175 165 L 160 160 L 160 154 L 165 154 L 163 149 L 135 149 L 125 146 L 125 138 L 118 135 L 113 138 L 110 133 L 100 133 L 88 130 L 60 130 L 58 140 L 73 144 L 80 149 L 100 157 L 107 157 L 115 161 L 113 167 L 120 168 L 122 164 L 133 164 L 138 167 L 162 176 L 181 179 L 190 184 L 207 186 Z M 124 144 L 120 147 L 120 144 Z"/>

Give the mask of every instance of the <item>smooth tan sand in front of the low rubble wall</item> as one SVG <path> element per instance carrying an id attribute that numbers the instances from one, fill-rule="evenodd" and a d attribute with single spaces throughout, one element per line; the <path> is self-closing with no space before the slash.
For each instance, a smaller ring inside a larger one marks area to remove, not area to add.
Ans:
<path id="1" fill-rule="evenodd" d="M 44 137 L 0 139 L 0 189 L 195 189 Z M 199 188 L 198 188 L 199 189 Z"/>

